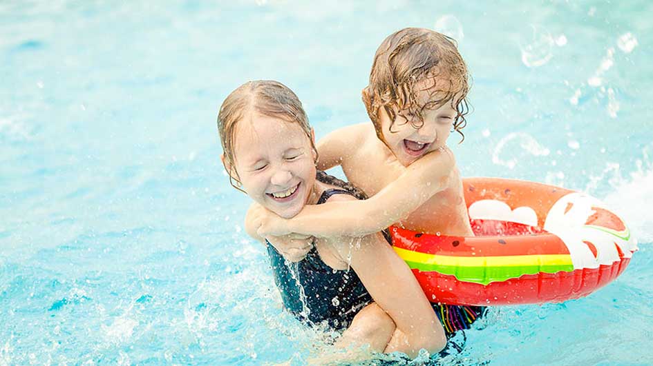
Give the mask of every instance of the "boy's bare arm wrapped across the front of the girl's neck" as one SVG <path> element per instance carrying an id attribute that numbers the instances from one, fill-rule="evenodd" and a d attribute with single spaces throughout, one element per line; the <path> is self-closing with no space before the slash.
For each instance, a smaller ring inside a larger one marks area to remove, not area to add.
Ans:
<path id="1" fill-rule="evenodd" d="M 261 217 L 258 232 L 273 235 L 294 232 L 319 237 L 379 232 L 406 218 L 434 194 L 444 190 L 454 167 L 451 150 L 436 150 L 410 164 L 404 174 L 370 199 L 306 205 L 291 219 L 268 212 Z"/>

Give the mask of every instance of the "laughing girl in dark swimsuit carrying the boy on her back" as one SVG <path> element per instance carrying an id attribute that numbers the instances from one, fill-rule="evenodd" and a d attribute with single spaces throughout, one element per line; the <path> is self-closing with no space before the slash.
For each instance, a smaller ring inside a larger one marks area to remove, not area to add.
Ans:
<path id="1" fill-rule="evenodd" d="M 231 184 L 254 201 L 245 228 L 266 245 L 290 312 L 311 325 L 349 325 L 341 346 L 369 344 L 377 352 L 416 356 L 419 349 L 437 352 L 446 345 L 415 277 L 379 232 L 355 239 L 322 236 L 308 245 L 305 258 L 290 264 L 273 243 L 292 238 L 265 240 L 256 234 L 261 210 L 292 218 L 306 205 L 363 198 L 316 171 L 313 132 L 289 88 L 276 81 L 241 85 L 220 107 L 218 132 Z"/>

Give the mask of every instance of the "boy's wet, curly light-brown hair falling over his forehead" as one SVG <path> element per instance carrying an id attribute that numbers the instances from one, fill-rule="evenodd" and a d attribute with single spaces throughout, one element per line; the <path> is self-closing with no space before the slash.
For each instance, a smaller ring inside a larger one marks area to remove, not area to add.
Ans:
<path id="1" fill-rule="evenodd" d="M 456 48 L 455 40 L 424 28 L 404 28 L 390 34 L 379 45 L 372 63 L 370 83 L 363 89 L 363 103 L 374 123 L 377 136 L 385 142 L 381 132 L 379 110 L 390 116 L 390 131 L 397 113 L 414 128 L 424 125 L 424 109 L 437 109 L 450 102 L 457 111 L 453 129 L 462 136 L 465 115 L 469 111 L 469 72 Z M 424 88 L 416 84 L 426 82 Z M 417 93 L 428 90 L 430 100 L 420 105 Z M 406 114 L 415 116 L 407 118 Z"/>

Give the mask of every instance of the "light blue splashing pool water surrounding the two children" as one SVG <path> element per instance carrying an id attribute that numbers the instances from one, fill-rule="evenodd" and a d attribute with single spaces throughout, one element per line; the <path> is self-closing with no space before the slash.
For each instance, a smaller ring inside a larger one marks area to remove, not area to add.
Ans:
<path id="1" fill-rule="evenodd" d="M 491 309 L 439 362 L 653 363 L 652 15 L 650 1 L 1 2 L 0 365 L 321 352 L 243 232 L 218 105 L 278 79 L 318 138 L 368 121 L 372 56 L 406 26 L 457 37 L 473 75 L 465 141 L 449 140 L 464 176 L 589 192 L 640 247 L 592 296 Z"/>

